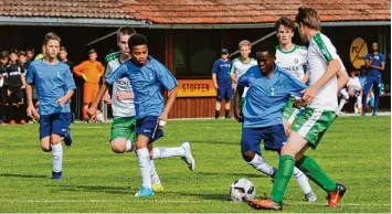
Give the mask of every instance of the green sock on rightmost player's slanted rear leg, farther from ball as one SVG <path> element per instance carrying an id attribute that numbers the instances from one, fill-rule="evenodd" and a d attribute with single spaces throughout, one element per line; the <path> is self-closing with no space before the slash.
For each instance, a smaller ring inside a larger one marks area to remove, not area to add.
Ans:
<path id="1" fill-rule="evenodd" d="M 296 167 L 327 193 L 332 193 L 336 190 L 336 182 L 318 167 L 314 159 L 304 156 Z"/>

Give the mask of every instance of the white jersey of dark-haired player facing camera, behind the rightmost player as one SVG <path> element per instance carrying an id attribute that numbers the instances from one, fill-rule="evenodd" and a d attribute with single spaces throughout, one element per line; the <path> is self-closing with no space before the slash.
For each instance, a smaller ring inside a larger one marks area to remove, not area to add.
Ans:
<path id="1" fill-rule="evenodd" d="M 275 63 L 283 69 L 290 73 L 298 81 L 303 79 L 305 76 L 305 71 L 307 68 L 307 49 L 304 46 L 298 46 L 294 44 L 292 51 L 283 51 L 280 46 L 276 46 L 276 61 Z"/>

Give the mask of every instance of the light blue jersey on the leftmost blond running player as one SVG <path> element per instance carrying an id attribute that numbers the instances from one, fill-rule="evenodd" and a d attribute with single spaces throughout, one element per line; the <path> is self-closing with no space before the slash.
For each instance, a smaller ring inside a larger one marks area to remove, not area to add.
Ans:
<path id="1" fill-rule="evenodd" d="M 64 107 L 56 103 L 70 89 L 76 88 L 68 65 L 62 62 L 49 65 L 43 60 L 34 61 L 29 66 L 27 82 L 35 85 L 40 115 L 71 113 L 70 101 L 66 101 Z"/>

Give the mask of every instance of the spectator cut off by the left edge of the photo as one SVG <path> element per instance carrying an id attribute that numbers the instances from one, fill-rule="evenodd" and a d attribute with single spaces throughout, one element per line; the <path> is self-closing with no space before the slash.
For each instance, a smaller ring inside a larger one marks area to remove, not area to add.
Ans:
<path id="1" fill-rule="evenodd" d="M 7 63 L 8 63 L 8 52 L 2 51 L 0 53 L 0 125 L 7 122 L 8 117 L 8 73 L 7 73 Z"/>

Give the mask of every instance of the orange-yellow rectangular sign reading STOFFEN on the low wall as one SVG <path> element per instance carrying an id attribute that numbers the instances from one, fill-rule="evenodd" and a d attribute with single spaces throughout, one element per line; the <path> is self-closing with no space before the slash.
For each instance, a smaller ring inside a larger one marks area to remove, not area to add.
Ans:
<path id="1" fill-rule="evenodd" d="M 212 79 L 179 79 L 177 97 L 215 97 Z M 169 94 L 170 96 L 170 94 Z"/>

